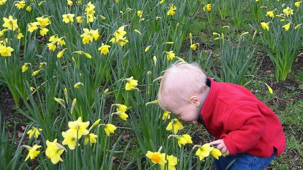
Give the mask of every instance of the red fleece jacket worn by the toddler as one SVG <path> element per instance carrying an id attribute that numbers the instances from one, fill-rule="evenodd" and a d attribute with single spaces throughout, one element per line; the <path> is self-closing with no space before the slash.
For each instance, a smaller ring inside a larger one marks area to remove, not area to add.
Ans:
<path id="1" fill-rule="evenodd" d="M 212 136 L 224 140 L 230 155 L 269 157 L 274 147 L 280 155 L 286 141 L 276 114 L 245 87 L 207 79 L 210 92 L 201 109 L 202 123 Z"/>

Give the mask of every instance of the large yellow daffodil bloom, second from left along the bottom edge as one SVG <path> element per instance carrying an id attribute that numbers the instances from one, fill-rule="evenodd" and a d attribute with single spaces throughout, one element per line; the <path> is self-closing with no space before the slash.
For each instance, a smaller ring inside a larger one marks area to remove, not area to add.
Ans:
<path id="1" fill-rule="evenodd" d="M 46 141 L 47 148 L 45 150 L 45 155 L 51 159 L 53 164 L 63 161 L 60 155 L 66 150 L 63 146 L 57 143 L 57 139 L 53 142 Z"/>

